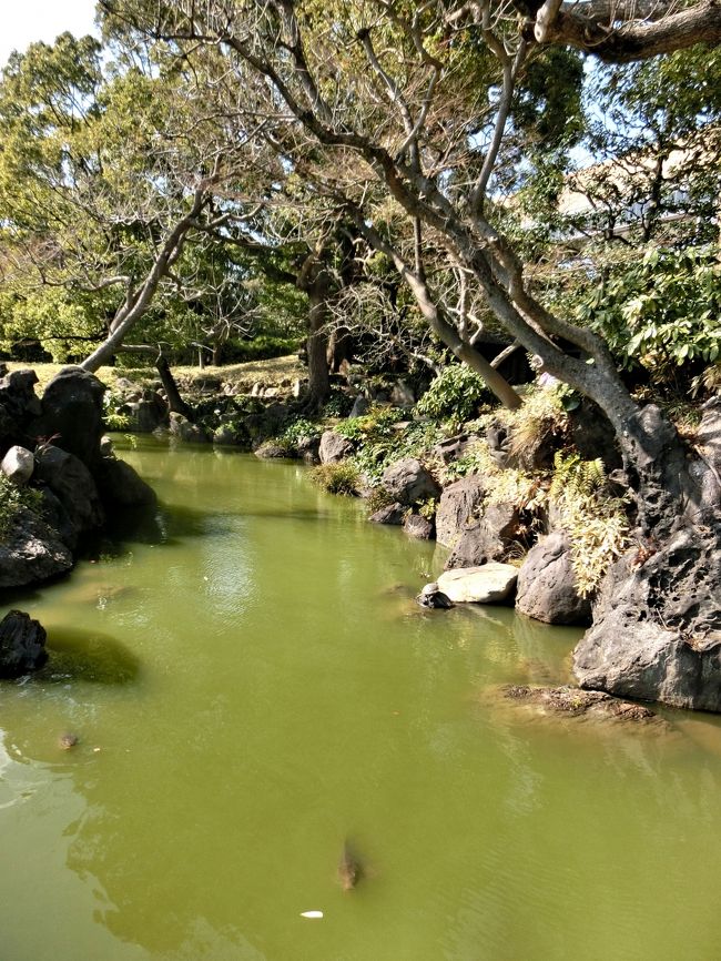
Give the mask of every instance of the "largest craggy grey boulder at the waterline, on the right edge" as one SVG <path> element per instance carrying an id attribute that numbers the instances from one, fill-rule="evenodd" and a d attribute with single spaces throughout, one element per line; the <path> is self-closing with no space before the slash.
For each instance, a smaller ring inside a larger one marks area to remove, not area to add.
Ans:
<path id="1" fill-rule="evenodd" d="M 654 553 L 653 553 L 654 552 Z M 620 558 L 573 651 L 580 686 L 721 711 L 721 524 Z"/>

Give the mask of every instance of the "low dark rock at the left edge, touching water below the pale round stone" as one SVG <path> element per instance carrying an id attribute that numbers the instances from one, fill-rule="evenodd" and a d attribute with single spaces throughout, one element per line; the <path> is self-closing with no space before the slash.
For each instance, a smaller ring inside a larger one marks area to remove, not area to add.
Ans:
<path id="1" fill-rule="evenodd" d="M 22 587 L 64 574 L 72 554 L 58 532 L 27 508 L 10 522 L 0 543 L 0 587 Z"/>

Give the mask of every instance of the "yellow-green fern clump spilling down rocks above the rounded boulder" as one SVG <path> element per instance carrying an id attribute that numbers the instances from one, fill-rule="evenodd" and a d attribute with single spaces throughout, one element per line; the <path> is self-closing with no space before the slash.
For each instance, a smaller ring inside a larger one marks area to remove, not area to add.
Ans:
<path id="1" fill-rule="evenodd" d="M 627 502 L 609 493 L 601 459 L 578 454 L 555 458 L 549 499 L 561 513 L 571 538 L 571 564 L 582 597 L 592 594 L 609 565 L 628 547 Z"/>

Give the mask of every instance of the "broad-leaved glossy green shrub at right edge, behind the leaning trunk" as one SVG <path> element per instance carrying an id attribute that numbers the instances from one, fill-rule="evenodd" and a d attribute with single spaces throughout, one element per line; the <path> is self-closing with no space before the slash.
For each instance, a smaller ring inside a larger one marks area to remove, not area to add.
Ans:
<path id="1" fill-rule="evenodd" d="M 627 367 L 657 381 L 721 352 L 721 265 L 713 250 L 650 249 L 615 272 L 579 311 Z"/>

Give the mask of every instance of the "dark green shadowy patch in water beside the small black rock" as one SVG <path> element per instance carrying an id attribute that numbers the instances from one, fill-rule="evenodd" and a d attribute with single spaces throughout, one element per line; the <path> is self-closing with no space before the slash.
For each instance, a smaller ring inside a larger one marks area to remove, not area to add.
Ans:
<path id="1" fill-rule="evenodd" d="M 45 666 L 31 682 L 67 684 L 70 680 L 100 685 L 123 685 L 135 680 L 140 661 L 131 651 L 106 634 L 75 628 L 48 631 Z"/>

